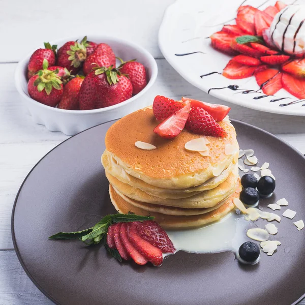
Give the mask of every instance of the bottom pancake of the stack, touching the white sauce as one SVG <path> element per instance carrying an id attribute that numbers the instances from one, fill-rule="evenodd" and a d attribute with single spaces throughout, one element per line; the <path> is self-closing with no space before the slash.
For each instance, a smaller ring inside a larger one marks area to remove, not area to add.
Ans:
<path id="1" fill-rule="evenodd" d="M 120 197 L 113 187 L 110 185 L 109 194 L 115 209 L 122 214 L 127 214 L 129 211 L 134 212 L 136 215 L 154 216 L 155 221 L 158 222 L 165 229 L 191 229 L 202 227 L 211 222 L 215 222 L 227 215 L 230 210 L 234 208 L 233 199 L 239 198 L 240 192 L 240 179 L 238 179 L 236 191 L 225 201 L 219 208 L 212 210 L 206 214 L 195 216 L 171 216 L 163 215 L 160 213 L 148 212 L 142 208 L 135 207 Z"/>

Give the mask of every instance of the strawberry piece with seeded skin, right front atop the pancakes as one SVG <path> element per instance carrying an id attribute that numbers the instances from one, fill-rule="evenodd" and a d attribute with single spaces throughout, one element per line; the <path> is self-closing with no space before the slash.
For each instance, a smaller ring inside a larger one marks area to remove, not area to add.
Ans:
<path id="1" fill-rule="evenodd" d="M 222 138 L 227 136 L 226 131 L 201 107 L 192 107 L 186 129 L 205 136 Z"/>

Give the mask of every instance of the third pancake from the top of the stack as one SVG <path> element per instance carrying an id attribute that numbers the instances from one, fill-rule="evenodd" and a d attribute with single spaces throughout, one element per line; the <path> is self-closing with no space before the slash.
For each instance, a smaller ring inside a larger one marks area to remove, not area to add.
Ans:
<path id="1" fill-rule="evenodd" d="M 131 199 L 146 203 L 182 208 L 206 208 L 217 205 L 220 201 L 223 201 L 225 198 L 229 197 L 231 194 L 234 193 L 236 181 L 238 178 L 238 168 L 236 168 L 234 172 L 231 172 L 228 178 L 217 188 L 201 192 L 197 195 L 188 198 L 162 199 L 156 196 L 149 195 L 140 189 L 134 188 L 128 184 L 119 181 L 118 179 L 110 175 L 107 171 L 105 173 L 110 184 L 113 185 L 113 187 L 117 189 L 120 193 Z"/>

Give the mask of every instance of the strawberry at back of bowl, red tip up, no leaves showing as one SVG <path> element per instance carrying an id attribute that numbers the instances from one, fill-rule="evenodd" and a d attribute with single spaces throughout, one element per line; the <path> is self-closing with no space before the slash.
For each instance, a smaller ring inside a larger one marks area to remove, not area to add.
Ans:
<path id="1" fill-rule="evenodd" d="M 96 65 L 99 67 L 115 68 L 115 55 L 109 45 L 106 43 L 100 43 L 94 52 L 87 57 L 83 66 L 84 75 L 89 74 L 94 70 Z"/>

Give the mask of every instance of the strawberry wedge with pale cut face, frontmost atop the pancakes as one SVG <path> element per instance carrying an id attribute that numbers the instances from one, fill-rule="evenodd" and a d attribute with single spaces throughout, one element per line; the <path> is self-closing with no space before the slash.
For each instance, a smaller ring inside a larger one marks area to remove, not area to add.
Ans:
<path id="1" fill-rule="evenodd" d="M 185 127 L 189 117 L 191 103 L 187 103 L 171 116 L 162 121 L 155 129 L 154 133 L 165 139 L 176 137 Z"/>

